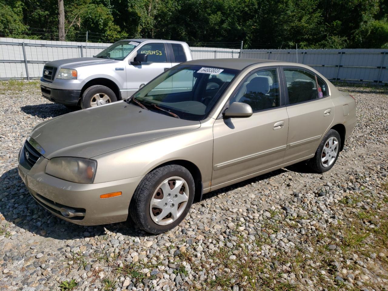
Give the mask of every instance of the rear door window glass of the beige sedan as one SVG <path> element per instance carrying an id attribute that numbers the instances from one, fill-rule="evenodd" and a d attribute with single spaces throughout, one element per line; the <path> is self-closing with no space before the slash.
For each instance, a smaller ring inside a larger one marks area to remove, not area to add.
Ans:
<path id="1" fill-rule="evenodd" d="M 318 98 L 314 74 L 301 69 L 284 69 L 284 75 L 287 82 L 289 104 Z"/>

